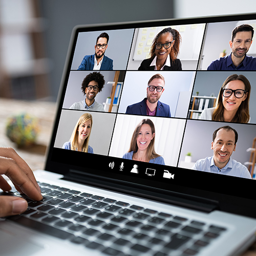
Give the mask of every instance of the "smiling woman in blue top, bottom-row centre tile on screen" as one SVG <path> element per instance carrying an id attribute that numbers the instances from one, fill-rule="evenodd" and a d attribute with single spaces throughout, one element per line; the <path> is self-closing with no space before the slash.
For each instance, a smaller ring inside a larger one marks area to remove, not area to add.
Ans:
<path id="1" fill-rule="evenodd" d="M 164 164 L 164 159 L 155 152 L 155 125 L 151 119 L 143 119 L 137 125 L 130 149 L 124 159 Z"/>

